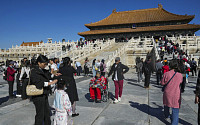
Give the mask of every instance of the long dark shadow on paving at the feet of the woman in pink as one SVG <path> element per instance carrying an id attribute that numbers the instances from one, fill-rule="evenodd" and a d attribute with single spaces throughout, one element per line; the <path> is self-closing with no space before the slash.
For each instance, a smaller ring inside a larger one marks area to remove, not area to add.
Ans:
<path id="1" fill-rule="evenodd" d="M 129 101 L 129 103 L 130 103 L 131 107 L 137 108 L 138 110 L 140 110 L 148 115 L 158 118 L 161 122 L 163 122 L 166 125 L 170 125 L 170 123 L 164 119 L 164 116 L 163 116 L 164 112 L 162 111 L 163 110 L 162 106 L 159 106 L 156 103 L 153 103 L 154 105 L 156 105 L 158 107 L 158 108 L 153 108 L 147 104 L 139 104 L 137 102 L 132 102 L 132 101 Z M 181 118 L 179 118 L 179 123 L 181 123 L 183 125 L 192 125 Z"/>

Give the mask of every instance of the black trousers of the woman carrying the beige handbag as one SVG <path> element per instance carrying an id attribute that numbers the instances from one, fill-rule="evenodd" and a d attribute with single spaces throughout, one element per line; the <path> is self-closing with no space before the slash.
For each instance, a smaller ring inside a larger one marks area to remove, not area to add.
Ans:
<path id="1" fill-rule="evenodd" d="M 35 125 L 51 125 L 48 96 L 33 96 L 32 100 L 36 109 Z"/>

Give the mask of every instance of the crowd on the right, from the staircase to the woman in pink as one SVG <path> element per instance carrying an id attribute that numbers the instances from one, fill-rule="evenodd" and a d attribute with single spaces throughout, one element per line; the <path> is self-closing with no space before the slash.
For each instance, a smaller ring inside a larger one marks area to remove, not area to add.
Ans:
<path id="1" fill-rule="evenodd" d="M 197 76 L 197 62 L 194 58 L 189 57 L 187 52 L 181 50 L 178 44 L 171 41 L 160 41 L 159 45 L 158 51 L 161 59 L 158 59 L 155 64 L 152 61 L 154 57 L 151 56 L 147 56 L 145 62 L 142 61 L 143 59 L 136 59 L 138 83 L 141 82 L 144 73 L 144 88 L 149 89 L 151 75 L 154 71 L 156 72 L 157 85 L 163 86 L 164 118 L 166 120 L 171 119 L 172 125 L 178 125 L 181 93 L 184 92 L 186 83 L 189 83 L 188 76 L 190 72 L 193 77 Z M 195 103 L 199 104 L 198 124 L 200 125 L 199 79 L 200 75 L 197 76 Z M 170 108 L 172 109 L 171 115 Z"/>

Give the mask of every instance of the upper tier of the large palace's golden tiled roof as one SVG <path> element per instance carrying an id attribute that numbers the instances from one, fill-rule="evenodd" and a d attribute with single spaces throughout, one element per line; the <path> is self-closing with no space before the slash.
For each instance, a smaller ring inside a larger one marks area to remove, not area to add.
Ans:
<path id="1" fill-rule="evenodd" d="M 116 12 L 110 14 L 107 18 L 95 23 L 85 24 L 86 27 L 118 25 L 118 24 L 134 24 L 146 22 L 163 22 L 175 20 L 189 20 L 191 21 L 194 15 L 177 15 L 164 10 L 162 7 L 131 10 Z"/>

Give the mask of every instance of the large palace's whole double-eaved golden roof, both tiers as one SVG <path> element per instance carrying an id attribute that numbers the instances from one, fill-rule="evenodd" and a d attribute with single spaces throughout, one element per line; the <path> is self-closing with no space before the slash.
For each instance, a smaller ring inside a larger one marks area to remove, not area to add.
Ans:
<path id="1" fill-rule="evenodd" d="M 158 8 L 116 12 L 95 23 L 85 24 L 90 31 L 79 32 L 86 40 L 130 39 L 132 37 L 160 37 L 194 35 L 200 25 L 188 24 L 194 15 L 177 15 Z"/>

